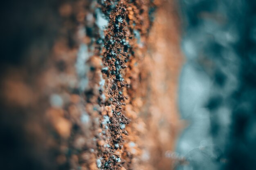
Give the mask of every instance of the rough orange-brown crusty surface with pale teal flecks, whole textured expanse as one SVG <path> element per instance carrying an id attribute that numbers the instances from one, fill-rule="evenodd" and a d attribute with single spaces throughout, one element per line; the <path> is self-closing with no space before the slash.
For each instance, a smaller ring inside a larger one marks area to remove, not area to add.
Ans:
<path id="1" fill-rule="evenodd" d="M 3 168 L 170 169 L 181 127 L 176 4 L 31 3 L 18 38 L 35 38 L 1 64 Z"/>

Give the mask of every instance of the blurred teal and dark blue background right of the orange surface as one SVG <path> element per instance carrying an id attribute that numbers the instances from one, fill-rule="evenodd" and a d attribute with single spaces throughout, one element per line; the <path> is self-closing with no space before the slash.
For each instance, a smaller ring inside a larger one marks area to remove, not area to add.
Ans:
<path id="1" fill-rule="evenodd" d="M 179 104 L 190 125 L 177 146 L 189 163 L 178 169 L 256 169 L 256 1 L 179 2 Z"/>

